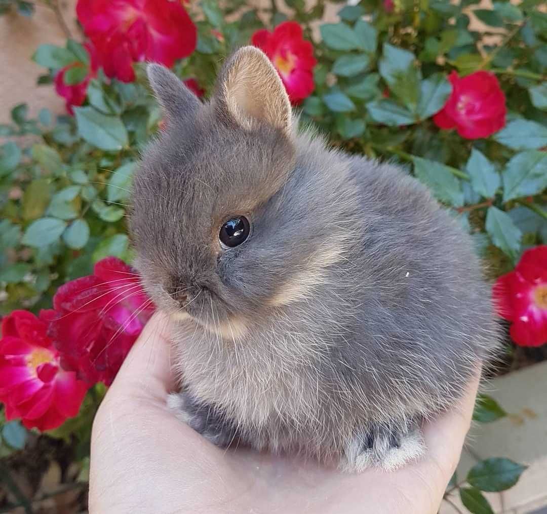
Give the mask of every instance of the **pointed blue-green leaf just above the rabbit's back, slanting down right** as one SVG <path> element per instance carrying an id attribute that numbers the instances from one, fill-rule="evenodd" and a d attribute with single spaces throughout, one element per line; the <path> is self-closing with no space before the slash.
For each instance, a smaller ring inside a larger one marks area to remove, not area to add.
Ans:
<path id="1" fill-rule="evenodd" d="M 412 161 L 416 177 L 432 190 L 435 197 L 455 207 L 463 205 L 462 186 L 451 168 L 422 157 L 412 157 Z"/>

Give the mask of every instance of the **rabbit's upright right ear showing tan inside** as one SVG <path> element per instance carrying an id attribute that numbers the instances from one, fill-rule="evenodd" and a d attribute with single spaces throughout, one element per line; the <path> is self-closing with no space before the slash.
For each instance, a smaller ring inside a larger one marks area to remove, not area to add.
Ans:
<path id="1" fill-rule="evenodd" d="M 244 46 L 225 63 L 216 101 L 221 117 L 227 115 L 244 128 L 265 122 L 290 136 L 291 110 L 285 86 L 270 60 L 255 46 Z"/>

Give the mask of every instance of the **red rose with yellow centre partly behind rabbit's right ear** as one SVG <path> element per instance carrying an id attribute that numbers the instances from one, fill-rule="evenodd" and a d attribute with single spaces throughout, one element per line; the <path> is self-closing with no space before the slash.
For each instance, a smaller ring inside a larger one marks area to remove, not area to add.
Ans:
<path id="1" fill-rule="evenodd" d="M 274 32 L 265 28 L 253 34 L 251 42 L 274 63 L 287 89 L 290 102 L 298 104 L 313 91 L 313 46 L 302 38 L 302 27 L 295 21 L 284 21 Z"/>

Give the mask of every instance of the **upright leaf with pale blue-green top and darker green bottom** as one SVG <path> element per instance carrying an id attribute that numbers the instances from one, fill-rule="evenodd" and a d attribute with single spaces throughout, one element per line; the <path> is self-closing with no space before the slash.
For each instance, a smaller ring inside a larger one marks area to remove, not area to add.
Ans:
<path id="1" fill-rule="evenodd" d="M 414 66 L 416 57 L 412 52 L 383 44 L 383 56 L 380 60 L 380 75 L 389 89 L 399 97 L 406 107 L 414 111 L 420 96 L 420 74 Z"/>

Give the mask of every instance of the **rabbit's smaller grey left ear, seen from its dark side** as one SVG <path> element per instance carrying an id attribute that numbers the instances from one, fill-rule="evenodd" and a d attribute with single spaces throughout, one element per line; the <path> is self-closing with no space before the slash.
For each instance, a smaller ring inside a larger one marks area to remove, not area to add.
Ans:
<path id="1" fill-rule="evenodd" d="M 146 67 L 146 72 L 167 118 L 184 119 L 200 107 L 201 102 L 194 93 L 165 66 L 152 63 Z"/>

